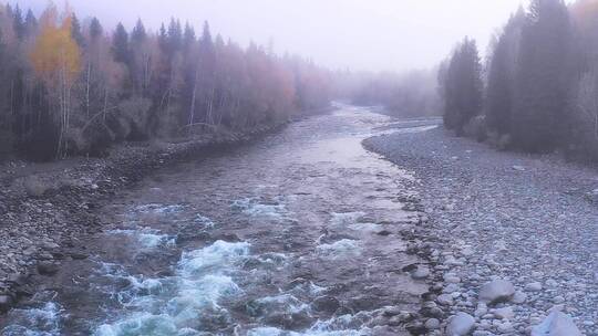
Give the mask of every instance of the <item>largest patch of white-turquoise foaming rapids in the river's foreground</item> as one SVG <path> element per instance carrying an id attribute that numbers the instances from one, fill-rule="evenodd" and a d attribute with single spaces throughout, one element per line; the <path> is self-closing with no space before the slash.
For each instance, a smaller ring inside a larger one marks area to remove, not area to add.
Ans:
<path id="1" fill-rule="evenodd" d="M 184 252 L 175 275 L 165 279 L 130 276 L 124 303 L 137 312 L 97 327 L 96 336 L 199 335 L 204 315 L 228 318 L 219 306 L 224 296 L 241 293 L 228 274 L 249 255 L 249 243 L 217 241 L 204 249 Z"/>

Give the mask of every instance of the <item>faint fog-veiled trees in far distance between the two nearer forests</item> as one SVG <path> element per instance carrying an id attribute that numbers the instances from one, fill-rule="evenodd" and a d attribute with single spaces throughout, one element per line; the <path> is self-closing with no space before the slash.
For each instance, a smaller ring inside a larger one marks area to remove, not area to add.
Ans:
<path id="1" fill-rule="evenodd" d="M 338 95 L 352 104 L 383 106 L 398 117 L 440 115 L 441 102 L 435 71 L 411 71 L 399 74 L 352 73 L 336 74 Z"/>

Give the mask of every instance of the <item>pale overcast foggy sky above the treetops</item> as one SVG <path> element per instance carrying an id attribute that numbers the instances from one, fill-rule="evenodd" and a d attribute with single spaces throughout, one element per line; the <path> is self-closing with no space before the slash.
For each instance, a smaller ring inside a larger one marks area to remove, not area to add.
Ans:
<path id="1" fill-rule="evenodd" d="M 63 0 L 56 0 L 60 4 Z M 47 0 L 10 0 L 37 11 Z M 156 29 L 171 17 L 247 44 L 272 40 L 319 64 L 405 71 L 435 65 L 465 35 L 485 50 L 491 34 L 527 0 L 70 0 L 104 27 L 137 18 Z"/>

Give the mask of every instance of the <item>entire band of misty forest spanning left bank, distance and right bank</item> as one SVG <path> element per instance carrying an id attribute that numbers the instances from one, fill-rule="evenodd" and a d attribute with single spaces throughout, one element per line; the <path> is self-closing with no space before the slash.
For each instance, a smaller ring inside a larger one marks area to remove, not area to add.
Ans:
<path id="1" fill-rule="evenodd" d="M 332 99 L 384 106 L 499 149 L 598 159 L 598 1 L 514 9 L 485 56 L 464 38 L 431 70 L 332 71 L 171 19 L 156 33 L 0 7 L 0 154 L 103 155 L 116 143 L 241 130 Z M 406 51 L 405 51 L 406 52 Z"/>

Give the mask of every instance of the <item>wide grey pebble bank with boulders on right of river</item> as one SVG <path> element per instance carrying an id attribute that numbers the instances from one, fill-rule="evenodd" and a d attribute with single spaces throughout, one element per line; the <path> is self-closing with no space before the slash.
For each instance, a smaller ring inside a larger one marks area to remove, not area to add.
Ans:
<path id="1" fill-rule="evenodd" d="M 364 145 L 417 177 L 431 270 L 413 275 L 431 280 L 419 315 L 432 335 L 598 335 L 594 169 L 442 128 Z"/>

